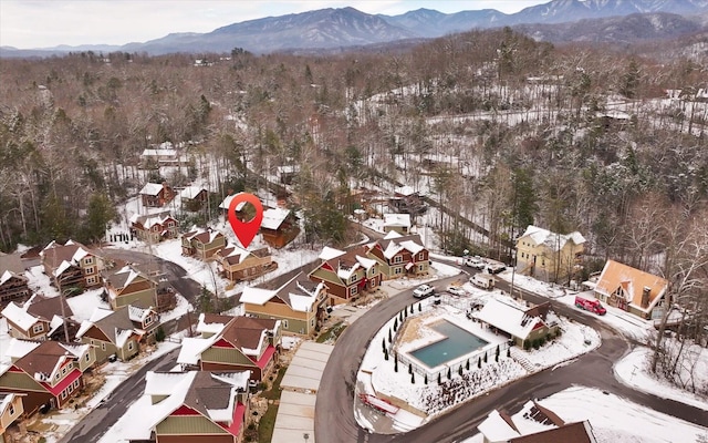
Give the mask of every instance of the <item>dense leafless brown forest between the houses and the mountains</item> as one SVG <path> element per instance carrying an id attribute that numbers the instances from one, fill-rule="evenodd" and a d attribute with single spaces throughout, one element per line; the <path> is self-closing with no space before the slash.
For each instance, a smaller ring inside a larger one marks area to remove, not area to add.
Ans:
<path id="1" fill-rule="evenodd" d="M 705 306 L 706 69 L 509 29 L 326 56 L 2 60 L 0 248 L 100 240 L 146 181 L 208 177 L 220 200 L 296 164 L 312 241 L 346 240 L 357 187 L 407 184 L 455 208 L 427 222 L 441 249 L 580 230 L 586 274 L 613 258 Z M 164 142 L 189 158 L 169 177 L 140 159 Z"/>

